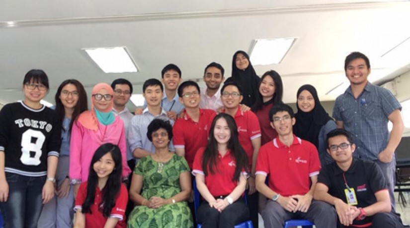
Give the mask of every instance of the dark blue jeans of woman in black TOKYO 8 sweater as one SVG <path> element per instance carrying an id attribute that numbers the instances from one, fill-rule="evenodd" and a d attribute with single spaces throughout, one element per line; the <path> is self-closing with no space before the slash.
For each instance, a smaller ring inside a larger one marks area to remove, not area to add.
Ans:
<path id="1" fill-rule="evenodd" d="M 41 193 L 46 176 L 31 177 L 5 172 L 8 199 L 0 203 L 4 228 L 37 228 L 43 208 Z"/>

